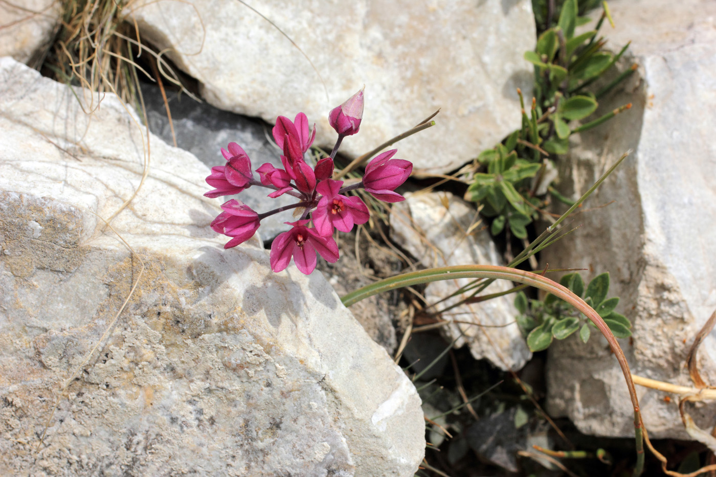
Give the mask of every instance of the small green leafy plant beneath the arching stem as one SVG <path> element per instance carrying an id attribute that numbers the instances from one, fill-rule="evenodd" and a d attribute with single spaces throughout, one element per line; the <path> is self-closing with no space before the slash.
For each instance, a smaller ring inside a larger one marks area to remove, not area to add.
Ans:
<path id="1" fill-rule="evenodd" d="M 609 273 L 595 276 L 586 287 L 586 293 L 579 274 L 565 275 L 559 284 L 566 286 L 577 297 L 584 296 L 584 302 L 604 319 L 615 337 L 632 336 L 632 324 L 627 317 L 614 311 L 619 298 L 606 298 L 609 293 Z M 548 294 L 544 300 L 530 300 L 520 291 L 515 298 L 515 307 L 520 312 L 517 323 L 527 334 L 527 345 L 533 352 L 546 350 L 553 339 L 565 339 L 578 329 L 579 337 L 586 343 L 591 334 L 589 327 L 594 326 L 583 314 L 553 294 Z"/>

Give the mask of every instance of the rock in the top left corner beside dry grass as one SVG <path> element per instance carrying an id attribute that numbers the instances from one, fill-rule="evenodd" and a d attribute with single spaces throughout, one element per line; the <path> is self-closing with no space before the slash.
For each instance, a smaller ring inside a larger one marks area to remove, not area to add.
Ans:
<path id="1" fill-rule="evenodd" d="M 62 19 L 60 7 L 57 0 L 0 3 L 0 57 L 28 64 L 39 59 Z"/>

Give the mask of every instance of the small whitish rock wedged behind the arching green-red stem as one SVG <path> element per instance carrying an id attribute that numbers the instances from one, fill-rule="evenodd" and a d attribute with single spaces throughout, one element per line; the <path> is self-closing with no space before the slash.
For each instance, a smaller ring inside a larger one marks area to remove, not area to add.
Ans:
<path id="1" fill-rule="evenodd" d="M 490 234 L 474 226 L 478 220 L 474 207 L 450 193 L 408 193 L 405 201 L 393 205 L 390 226 L 397 244 L 423 266 L 498 265 L 500 259 Z M 425 287 L 425 297 L 429 303 L 437 302 L 470 281 L 434 281 Z M 484 293 L 505 291 L 510 286 L 505 281 L 495 281 Z M 454 304 L 464 297 L 448 299 L 444 304 Z M 486 358 L 503 370 L 518 370 L 532 354 L 515 323 L 517 315 L 513 298 L 499 297 L 451 309 L 442 318 L 455 322 L 442 329 L 450 341 L 460 337 L 455 347 L 468 344 L 475 359 Z M 513 324 L 500 326 L 508 323 Z"/>

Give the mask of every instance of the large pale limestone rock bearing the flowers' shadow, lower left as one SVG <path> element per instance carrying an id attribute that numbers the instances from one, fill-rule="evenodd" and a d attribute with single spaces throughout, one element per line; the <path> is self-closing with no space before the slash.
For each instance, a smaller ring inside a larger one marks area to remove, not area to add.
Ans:
<path id="1" fill-rule="evenodd" d="M 9 58 L 0 111 L 0 474 L 413 475 L 410 380 L 319 273 L 222 249 L 205 165 L 153 137 L 139 188 L 133 112 Z M 98 218 L 135 192 L 112 226 L 137 255 Z"/>

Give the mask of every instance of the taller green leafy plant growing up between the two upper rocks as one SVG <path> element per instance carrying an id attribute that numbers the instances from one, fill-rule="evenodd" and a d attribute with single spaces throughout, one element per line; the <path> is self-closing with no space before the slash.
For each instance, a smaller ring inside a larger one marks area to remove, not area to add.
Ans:
<path id="1" fill-rule="evenodd" d="M 600 125 L 631 107 L 624 105 L 588 120 L 599 106 L 597 100 L 632 74 L 636 66 L 597 92 L 587 90 L 616 64 L 629 46 L 625 45 L 618 54 L 604 51 L 604 38 L 598 34 L 604 19 L 609 18 L 606 2 L 595 28 L 581 34 L 576 34 L 576 26 L 586 24 L 589 19 L 579 14 L 594 7 L 593 0 L 563 1 L 555 25 L 551 24 L 552 13 L 546 12 L 547 2 L 533 3 L 535 11 L 543 14 L 543 22 L 538 19 L 538 25 L 543 25 L 544 30 L 535 51 L 525 52 L 535 74 L 529 114 L 518 90 L 522 108 L 520 129 L 495 148 L 478 155 L 465 193 L 466 200 L 483 206 L 483 216 L 494 217 L 490 227 L 493 235 L 508 230 L 518 238 L 526 238 L 526 227 L 548 203 L 547 193 L 571 205 L 569 199 L 549 186 L 547 170 L 551 165 L 547 158 L 569 152 L 571 134 Z M 581 120 L 587 122 L 570 124 Z"/>

